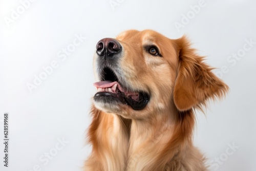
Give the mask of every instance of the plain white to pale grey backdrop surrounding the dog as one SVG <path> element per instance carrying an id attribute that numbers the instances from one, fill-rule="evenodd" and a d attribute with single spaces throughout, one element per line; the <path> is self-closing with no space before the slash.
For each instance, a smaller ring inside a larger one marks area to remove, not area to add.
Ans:
<path id="1" fill-rule="evenodd" d="M 212 170 L 256 170 L 255 43 L 236 63 L 227 61 L 232 53 L 243 51 L 245 39 L 256 42 L 255 1 L 205 0 L 205 6 L 191 14 L 180 30 L 175 22 L 181 23 L 183 14 L 190 14 L 190 6 L 199 1 L 112 2 L 119 2 L 118 6 L 112 8 L 109 0 L 37 0 L 8 27 L 6 18 L 17 8 L 23 12 L 22 5 L 16 0 L 0 1 L 1 139 L 3 115 L 10 115 L 9 167 L 3 166 L 1 143 L 0 170 L 33 170 L 35 165 L 41 170 L 80 170 L 90 153 L 84 142 L 95 93 L 95 45 L 127 29 L 153 29 L 169 38 L 186 34 L 209 65 L 226 66 L 226 73 L 219 76 L 230 87 L 229 94 L 211 102 L 206 115 L 198 113 L 195 144 L 215 164 Z M 75 35 L 87 39 L 62 61 L 57 54 L 73 43 Z M 39 76 L 52 61 L 58 67 L 30 93 L 27 83 L 33 83 L 34 75 Z M 69 143 L 49 163 L 41 162 L 40 156 L 53 152 L 58 138 Z M 238 146 L 229 149 L 232 155 L 226 154 L 228 143 Z"/>

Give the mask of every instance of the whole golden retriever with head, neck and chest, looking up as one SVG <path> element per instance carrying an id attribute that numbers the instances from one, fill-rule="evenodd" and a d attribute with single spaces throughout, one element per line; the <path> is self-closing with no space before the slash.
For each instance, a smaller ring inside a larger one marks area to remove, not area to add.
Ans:
<path id="1" fill-rule="evenodd" d="M 193 145 L 195 109 L 228 86 L 185 37 L 129 30 L 96 45 L 84 170 L 207 170 Z"/>

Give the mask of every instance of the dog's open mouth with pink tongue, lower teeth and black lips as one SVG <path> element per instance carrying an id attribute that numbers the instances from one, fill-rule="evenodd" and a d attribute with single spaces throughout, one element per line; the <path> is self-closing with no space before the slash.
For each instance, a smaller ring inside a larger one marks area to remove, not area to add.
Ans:
<path id="1" fill-rule="evenodd" d="M 145 108 L 150 96 L 143 91 L 129 91 L 122 87 L 116 74 L 110 68 L 104 68 L 101 73 L 101 81 L 95 82 L 97 93 L 95 101 L 104 103 L 119 102 L 130 105 L 134 110 Z"/>

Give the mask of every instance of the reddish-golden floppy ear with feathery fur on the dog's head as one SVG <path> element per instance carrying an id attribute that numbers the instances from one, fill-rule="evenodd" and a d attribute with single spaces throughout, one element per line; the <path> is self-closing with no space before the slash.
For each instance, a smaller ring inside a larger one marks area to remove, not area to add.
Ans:
<path id="1" fill-rule="evenodd" d="M 176 40 L 179 68 L 174 86 L 174 103 L 179 111 L 201 108 L 208 99 L 221 98 L 228 86 L 191 49 L 183 36 Z"/>

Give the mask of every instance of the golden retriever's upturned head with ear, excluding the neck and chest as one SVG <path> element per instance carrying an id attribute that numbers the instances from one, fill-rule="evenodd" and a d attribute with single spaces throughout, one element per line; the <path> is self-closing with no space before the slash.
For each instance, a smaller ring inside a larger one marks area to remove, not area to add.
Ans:
<path id="1" fill-rule="evenodd" d="M 94 105 L 124 118 L 187 111 L 228 90 L 185 37 L 129 30 L 96 45 Z"/>

